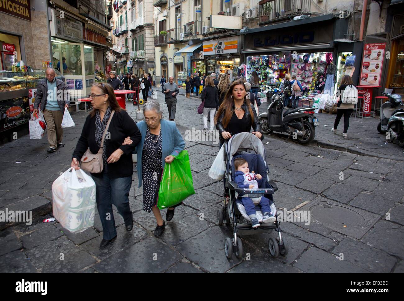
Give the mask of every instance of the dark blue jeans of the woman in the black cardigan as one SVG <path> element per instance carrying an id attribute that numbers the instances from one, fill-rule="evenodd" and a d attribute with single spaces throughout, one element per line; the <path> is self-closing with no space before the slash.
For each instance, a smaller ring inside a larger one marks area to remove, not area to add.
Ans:
<path id="1" fill-rule="evenodd" d="M 103 172 L 101 178 L 92 176 L 96 186 L 97 209 L 100 215 L 103 238 L 110 240 L 116 236 L 114 213 L 112 204 L 124 218 L 125 224 L 133 223 L 132 211 L 129 207 L 129 190 L 132 186 L 132 176 L 124 178 L 108 178 Z"/>

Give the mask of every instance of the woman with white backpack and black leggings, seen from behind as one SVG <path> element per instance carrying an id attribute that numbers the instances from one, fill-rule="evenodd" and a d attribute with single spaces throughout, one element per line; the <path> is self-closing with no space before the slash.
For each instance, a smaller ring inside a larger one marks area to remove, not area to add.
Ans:
<path id="1" fill-rule="evenodd" d="M 337 105 L 337 117 L 335 117 L 334 128 L 332 132 L 337 134 L 337 127 L 342 115 L 344 115 L 344 131 L 342 136 L 348 138 L 347 131 L 349 127 L 349 117 L 353 113 L 354 103 L 358 102 L 358 90 L 353 85 L 352 78 L 349 75 L 344 75 L 341 80 L 341 86 L 338 88 L 339 98 Z M 344 98 L 345 93 L 345 98 Z M 343 103 L 345 102 L 345 103 Z"/>

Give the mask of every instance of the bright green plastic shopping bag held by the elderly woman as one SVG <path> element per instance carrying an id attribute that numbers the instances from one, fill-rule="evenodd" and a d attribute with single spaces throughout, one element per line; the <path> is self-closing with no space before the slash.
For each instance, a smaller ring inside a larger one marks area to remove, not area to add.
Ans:
<path id="1" fill-rule="evenodd" d="M 159 209 L 178 205 L 195 193 L 188 151 L 183 150 L 171 164 L 166 164 L 158 191 Z"/>

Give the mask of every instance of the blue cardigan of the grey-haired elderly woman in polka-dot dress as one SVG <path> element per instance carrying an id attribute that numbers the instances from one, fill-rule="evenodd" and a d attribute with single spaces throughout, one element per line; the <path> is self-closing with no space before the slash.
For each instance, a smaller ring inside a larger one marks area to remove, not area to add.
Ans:
<path id="1" fill-rule="evenodd" d="M 173 155 L 177 156 L 184 148 L 185 148 L 185 141 L 182 138 L 180 132 L 177 129 L 174 121 L 168 121 L 165 119 L 160 120 L 161 124 L 161 138 L 162 138 L 162 156 L 161 162 L 162 167 L 164 168 L 166 161 L 164 158 Z M 140 121 L 137 124 L 137 128 L 139 128 L 142 139 L 140 140 L 134 154 L 137 153 L 137 176 L 139 178 L 139 186 L 142 186 L 142 153 L 143 153 L 143 144 L 146 138 L 146 131 L 147 131 L 147 124 L 145 121 Z"/>

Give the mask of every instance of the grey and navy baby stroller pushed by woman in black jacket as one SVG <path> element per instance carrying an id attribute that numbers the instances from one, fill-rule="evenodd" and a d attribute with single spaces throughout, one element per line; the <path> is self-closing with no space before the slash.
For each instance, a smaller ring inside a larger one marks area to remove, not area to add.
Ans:
<path id="1" fill-rule="evenodd" d="M 269 238 L 269 255 L 271 255 L 271 257 L 277 257 L 279 254 L 286 256 L 288 247 L 284 240 L 282 240 L 279 227 L 280 222 L 262 223 L 263 214 L 260 211 L 260 207 L 256 205 L 256 215 L 260 226 L 258 228 L 252 228 L 250 217 L 247 215 L 241 201 L 236 198 L 236 192 L 239 196 L 243 194 L 254 194 L 254 197 L 265 196 L 269 199 L 271 214 L 276 216 L 276 207 L 272 194 L 278 190 L 278 187 L 274 181 L 269 180 L 269 169 L 265 162 L 265 150 L 261 140 L 251 133 L 239 133 L 231 137 L 229 142 L 225 142 L 224 150 L 226 165 L 224 181 L 225 189 L 229 190 L 230 199 L 228 204 L 224 203 L 223 207 L 218 209 L 217 220 L 219 226 L 223 224 L 223 221 L 227 226 L 231 224 L 234 234 L 233 238 L 227 237 L 225 239 L 226 257 L 230 259 L 233 253 L 236 254 L 237 258 L 241 258 L 243 255 L 242 241 L 237 234 L 251 235 L 271 233 L 274 229 L 278 232 L 278 237 L 276 240 Z M 255 173 L 259 173 L 262 176 L 263 181 L 259 189 L 238 188 L 237 183 L 234 181 L 236 173 L 234 159 L 240 157 L 248 162 L 250 171 L 255 171 Z"/>

